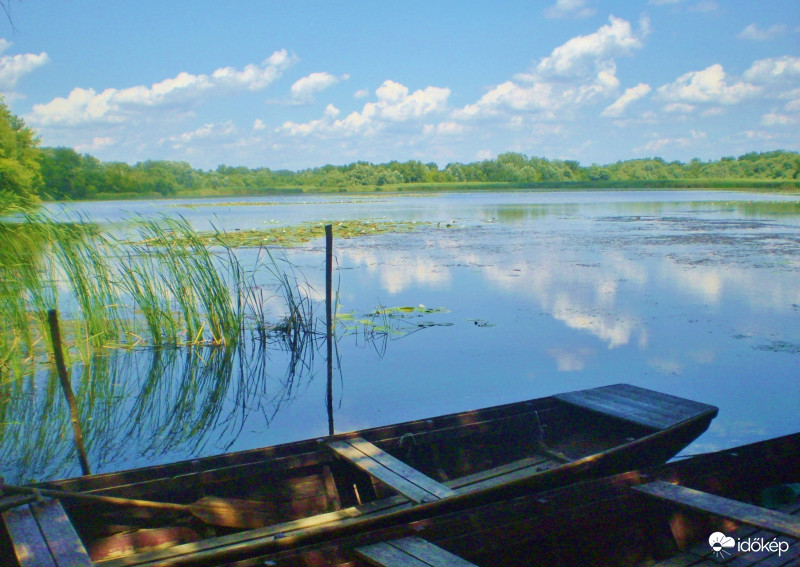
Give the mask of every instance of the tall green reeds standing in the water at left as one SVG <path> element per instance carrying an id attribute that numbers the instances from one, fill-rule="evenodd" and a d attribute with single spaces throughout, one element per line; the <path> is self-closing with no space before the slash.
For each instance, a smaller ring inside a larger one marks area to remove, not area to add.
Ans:
<path id="1" fill-rule="evenodd" d="M 80 218 L 1 224 L 0 384 L 52 352 L 48 309 L 61 312 L 68 354 L 84 364 L 109 348 L 233 346 L 246 331 L 303 350 L 313 306 L 294 267 L 266 250 L 246 267 L 218 234 L 209 246 L 182 218 L 139 219 L 125 237 Z M 264 273 L 277 291 L 258 283 Z M 284 305 L 270 322 L 276 296 Z"/>

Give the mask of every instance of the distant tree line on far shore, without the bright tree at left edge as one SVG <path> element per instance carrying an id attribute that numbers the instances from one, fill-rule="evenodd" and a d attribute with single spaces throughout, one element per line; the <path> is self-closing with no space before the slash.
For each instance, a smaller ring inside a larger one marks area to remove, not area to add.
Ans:
<path id="1" fill-rule="evenodd" d="M 246 193 L 265 189 L 358 190 L 409 184 L 625 182 L 699 179 L 800 180 L 800 154 L 785 151 L 689 163 L 660 158 L 581 166 L 577 161 L 548 160 L 519 153 L 474 163 L 392 161 L 326 165 L 302 171 L 273 171 L 220 165 L 200 170 L 186 162 L 145 161 L 135 165 L 101 162 L 69 148 L 43 148 L 39 194 L 49 199 L 91 199 L 137 195 Z"/>

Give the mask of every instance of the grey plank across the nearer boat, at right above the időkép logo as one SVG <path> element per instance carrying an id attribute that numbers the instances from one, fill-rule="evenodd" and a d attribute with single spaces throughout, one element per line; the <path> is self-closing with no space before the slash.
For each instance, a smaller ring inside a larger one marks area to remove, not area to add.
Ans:
<path id="1" fill-rule="evenodd" d="M 715 496 L 714 494 L 686 488 L 685 486 L 670 484 L 661 480 L 635 486 L 633 489 L 643 492 L 644 494 L 655 496 L 656 498 L 661 498 L 662 500 L 668 500 L 683 506 L 716 514 L 717 516 L 731 518 L 751 526 L 800 539 L 800 518 L 783 512 L 776 512 L 775 510 Z"/>

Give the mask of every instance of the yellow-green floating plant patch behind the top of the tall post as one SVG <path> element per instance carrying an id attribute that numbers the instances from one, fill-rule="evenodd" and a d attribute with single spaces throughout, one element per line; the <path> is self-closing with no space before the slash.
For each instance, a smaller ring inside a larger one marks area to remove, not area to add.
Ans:
<path id="1" fill-rule="evenodd" d="M 347 220 L 334 223 L 307 222 L 292 226 L 273 226 L 233 231 L 206 231 L 198 233 L 204 244 L 228 248 L 259 246 L 298 246 L 325 236 L 325 225 L 333 226 L 334 238 L 355 238 L 397 232 L 410 232 L 429 223 Z"/>

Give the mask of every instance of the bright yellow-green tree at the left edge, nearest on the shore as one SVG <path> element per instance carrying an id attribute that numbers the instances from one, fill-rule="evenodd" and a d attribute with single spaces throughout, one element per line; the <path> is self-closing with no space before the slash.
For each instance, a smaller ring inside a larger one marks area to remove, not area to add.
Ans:
<path id="1" fill-rule="evenodd" d="M 41 184 L 39 140 L 25 122 L 11 113 L 0 96 L 0 212 L 13 205 L 38 202 Z"/>

